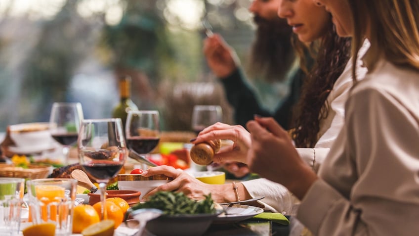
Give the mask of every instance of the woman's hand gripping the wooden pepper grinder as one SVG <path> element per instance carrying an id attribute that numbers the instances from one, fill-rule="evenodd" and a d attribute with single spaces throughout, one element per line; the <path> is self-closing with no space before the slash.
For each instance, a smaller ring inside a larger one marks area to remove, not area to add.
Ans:
<path id="1" fill-rule="evenodd" d="M 193 143 L 216 139 L 231 140 L 233 145 L 221 146 L 220 151 L 214 155 L 213 161 L 215 163 L 227 161 L 247 162 L 246 157 L 251 145 L 251 138 L 249 132 L 243 126 L 215 123 L 201 131 Z"/>

